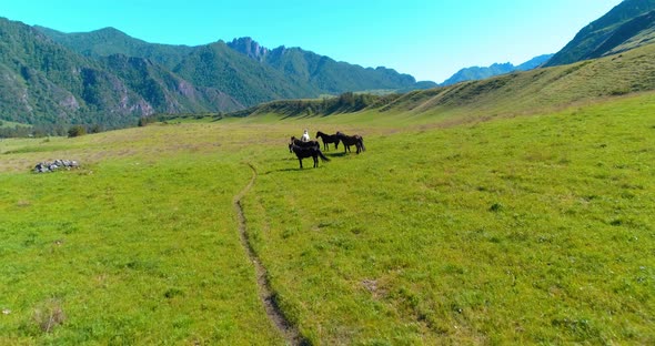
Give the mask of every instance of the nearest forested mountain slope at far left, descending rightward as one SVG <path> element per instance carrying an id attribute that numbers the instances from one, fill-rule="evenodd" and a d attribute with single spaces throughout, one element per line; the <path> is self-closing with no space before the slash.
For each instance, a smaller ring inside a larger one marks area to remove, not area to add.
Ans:
<path id="1" fill-rule="evenodd" d="M 2 118 L 23 123 L 107 125 L 152 113 L 151 106 L 98 61 L 53 43 L 31 27 L 0 19 Z"/>

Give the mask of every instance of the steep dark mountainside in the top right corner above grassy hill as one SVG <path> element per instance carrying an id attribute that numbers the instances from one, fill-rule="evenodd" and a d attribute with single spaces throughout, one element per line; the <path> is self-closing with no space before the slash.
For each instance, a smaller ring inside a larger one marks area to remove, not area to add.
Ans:
<path id="1" fill-rule="evenodd" d="M 655 0 L 624 0 L 583 28 L 545 65 L 605 57 L 655 42 Z"/>

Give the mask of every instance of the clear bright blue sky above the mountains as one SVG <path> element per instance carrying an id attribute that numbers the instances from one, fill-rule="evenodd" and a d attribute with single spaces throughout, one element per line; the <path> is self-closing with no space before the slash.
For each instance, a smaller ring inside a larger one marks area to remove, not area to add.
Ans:
<path id="1" fill-rule="evenodd" d="M 442 82 L 562 49 L 621 0 L 2 0 L 0 17 L 64 32 L 114 27 L 155 43 L 252 37 Z"/>

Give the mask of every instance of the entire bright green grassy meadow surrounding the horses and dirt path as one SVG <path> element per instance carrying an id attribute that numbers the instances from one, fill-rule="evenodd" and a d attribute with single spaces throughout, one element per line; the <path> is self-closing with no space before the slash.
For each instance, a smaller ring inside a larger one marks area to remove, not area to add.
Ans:
<path id="1" fill-rule="evenodd" d="M 302 129 L 364 136 L 299 170 Z M 81 162 L 32 174 L 36 163 Z M 0 142 L 0 344 L 655 343 L 655 93 Z"/>

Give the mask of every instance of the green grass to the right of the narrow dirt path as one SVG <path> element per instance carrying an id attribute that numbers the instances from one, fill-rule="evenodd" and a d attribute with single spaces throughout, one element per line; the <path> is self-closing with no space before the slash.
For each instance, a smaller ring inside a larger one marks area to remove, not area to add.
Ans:
<path id="1" fill-rule="evenodd" d="M 255 248 L 316 342 L 653 343 L 654 111 L 373 134 L 316 170 L 271 153 Z"/>

